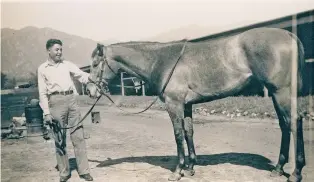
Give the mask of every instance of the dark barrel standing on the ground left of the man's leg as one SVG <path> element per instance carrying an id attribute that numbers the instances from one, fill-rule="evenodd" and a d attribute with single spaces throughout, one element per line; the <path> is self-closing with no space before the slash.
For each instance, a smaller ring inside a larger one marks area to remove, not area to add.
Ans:
<path id="1" fill-rule="evenodd" d="M 42 134 L 44 120 L 43 110 L 39 104 L 28 104 L 25 107 L 27 135 Z"/>

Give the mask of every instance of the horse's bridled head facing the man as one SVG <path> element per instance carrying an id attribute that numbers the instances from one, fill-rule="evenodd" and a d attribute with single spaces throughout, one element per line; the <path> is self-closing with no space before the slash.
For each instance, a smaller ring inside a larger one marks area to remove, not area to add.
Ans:
<path id="1" fill-rule="evenodd" d="M 88 83 L 86 91 L 90 97 L 98 97 L 100 95 L 98 89 L 107 86 L 117 75 L 118 65 L 110 56 L 110 49 L 102 44 L 97 44 L 91 58 L 90 79 L 94 83 Z"/>

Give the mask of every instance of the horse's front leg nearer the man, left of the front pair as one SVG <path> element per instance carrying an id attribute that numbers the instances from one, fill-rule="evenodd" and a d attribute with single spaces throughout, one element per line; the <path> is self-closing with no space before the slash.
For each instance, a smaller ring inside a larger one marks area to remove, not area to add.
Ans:
<path id="1" fill-rule="evenodd" d="M 173 124 L 174 136 L 177 143 L 177 152 L 178 152 L 178 164 L 175 171 L 168 178 L 169 181 L 178 181 L 181 179 L 182 169 L 184 167 L 184 104 L 166 100 L 166 107 L 169 113 L 170 119 Z"/>

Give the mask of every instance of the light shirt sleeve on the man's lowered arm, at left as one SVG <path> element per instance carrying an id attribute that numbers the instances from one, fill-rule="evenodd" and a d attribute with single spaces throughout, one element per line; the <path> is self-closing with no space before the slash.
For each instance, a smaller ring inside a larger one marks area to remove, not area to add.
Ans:
<path id="1" fill-rule="evenodd" d="M 38 91 L 39 91 L 39 104 L 44 112 L 44 115 L 50 114 L 48 105 L 48 89 L 45 82 L 45 77 L 42 73 L 41 67 L 38 68 Z"/>

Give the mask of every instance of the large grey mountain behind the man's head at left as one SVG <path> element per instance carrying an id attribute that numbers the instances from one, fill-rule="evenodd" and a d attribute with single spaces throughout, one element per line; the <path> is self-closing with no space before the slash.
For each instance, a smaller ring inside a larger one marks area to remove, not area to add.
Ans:
<path id="1" fill-rule="evenodd" d="M 77 66 L 89 64 L 90 55 L 97 42 L 70 35 L 51 28 L 25 27 L 20 30 L 1 29 L 1 71 L 9 77 L 29 77 L 46 61 L 46 41 L 61 39 L 63 56 Z"/>

